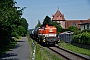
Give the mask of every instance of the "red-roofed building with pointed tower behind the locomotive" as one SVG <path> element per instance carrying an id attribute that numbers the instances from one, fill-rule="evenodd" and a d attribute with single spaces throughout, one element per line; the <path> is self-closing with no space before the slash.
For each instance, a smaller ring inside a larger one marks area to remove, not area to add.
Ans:
<path id="1" fill-rule="evenodd" d="M 64 29 L 67 29 L 70 26 L 76 26 L 80 29 L 80 24 L 90 22 L 90 19 L 87 20 L 66 20 L 64 14 L 58 9 L 55 14 L 52 15 L 52 21 L 57 22 Z"/>

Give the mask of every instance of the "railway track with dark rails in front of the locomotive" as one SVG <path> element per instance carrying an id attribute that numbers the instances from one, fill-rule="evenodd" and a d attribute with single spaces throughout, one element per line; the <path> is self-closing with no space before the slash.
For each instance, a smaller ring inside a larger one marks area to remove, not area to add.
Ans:
<path id="1" fill-rule="evenodd" d="M 48 49 L 52 50 L 56 54 L 62 56 L 64 60 L 90 60 L 88 57 L 81 56 L 79 54 L 73 53 L 66 49 L 60 48 L 58 46 L 55 47 L 47 47 Z"/>

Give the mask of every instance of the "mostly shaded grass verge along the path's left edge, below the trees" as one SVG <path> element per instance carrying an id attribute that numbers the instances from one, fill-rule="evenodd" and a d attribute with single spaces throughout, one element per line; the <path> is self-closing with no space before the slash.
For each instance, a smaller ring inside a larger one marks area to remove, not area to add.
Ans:
<path id="1" fill-rule="evenodd" d="M 18 39 L 17 38 L 14 38 L 14 41 L 10 42 L 7 46 L 4 46 L 2 49 L 0 49 L 0 56 L 3 56 L 4 54 L 6 54 L 10 49 L 12 49 L 18 41 L 20 40 L 21 37 L 19 36 Z"/>

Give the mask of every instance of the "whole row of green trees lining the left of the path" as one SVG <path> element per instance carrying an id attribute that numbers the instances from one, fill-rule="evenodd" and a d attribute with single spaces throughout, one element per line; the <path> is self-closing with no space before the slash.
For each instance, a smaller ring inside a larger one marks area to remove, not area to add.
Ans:
<path id="1" fill-rule="evenodd" d="M 0 0 L 0 49 L 12 42 L 12 37 L 25 36 L 27 20 L 22 16 L 25 7 L 15 6 L 14 0 Z"/>

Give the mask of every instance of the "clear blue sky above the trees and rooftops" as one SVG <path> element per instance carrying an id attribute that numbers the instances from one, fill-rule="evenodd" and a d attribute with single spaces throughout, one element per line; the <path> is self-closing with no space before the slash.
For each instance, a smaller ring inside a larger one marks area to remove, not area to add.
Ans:
<path id="1" fill-rule="evenodd" d="M 52 14 L 60 10 L 66 20 L 87 20 L 90 18 L 90 0 L 14 0 L 16 6 L 26 7 L 23 11 L 29 26 L 33 29 L 38 23 L 42 23 L 46 16 L 52 19 Z"/>

